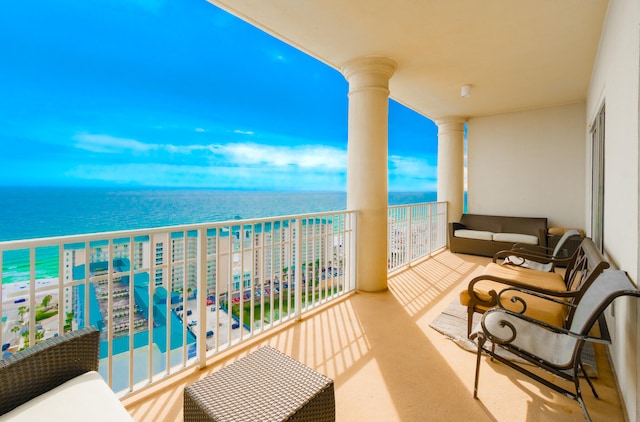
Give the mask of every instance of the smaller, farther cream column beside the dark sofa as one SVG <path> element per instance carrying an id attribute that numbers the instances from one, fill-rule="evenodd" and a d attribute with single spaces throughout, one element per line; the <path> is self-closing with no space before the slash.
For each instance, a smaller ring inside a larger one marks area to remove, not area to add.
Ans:
<path id="1" fill-rule="evenodd" d="M 449 221 L 464 210 L 464 123 L 460 116 L 435 120 L 438 126 L 438 201 L 448 202 Z"/>

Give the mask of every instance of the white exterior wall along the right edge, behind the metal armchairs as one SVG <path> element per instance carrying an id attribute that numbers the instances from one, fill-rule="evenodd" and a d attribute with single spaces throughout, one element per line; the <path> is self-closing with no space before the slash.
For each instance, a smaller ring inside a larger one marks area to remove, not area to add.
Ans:
<path id="1" fill-rule="evenodd" d="M 591 78 L 587 98 L 587 119 L 590 123 L 602 103 L 605 103 L 605 252 L 612 266 L 627 271 L 636 284 L 640 272 L 639 63 L 640 2 L 612 0 L 609 3 Z M 585 161 L 590 165 L 591 142 L 588 137 L 585 144 Z M 591 181 L 587 178 L 586 182 L 590 192 Z M 587 215 L 590 206 L 589 194 L 588 200 L 585 201 Z M 609 328 L 613 336 L 611 358 L 631 421 L 640 421 L 640 340 L 637 305 L 637 300 L 618 299 L 614 304 L 615 312 L 610 310 L 608 315 Z"/>

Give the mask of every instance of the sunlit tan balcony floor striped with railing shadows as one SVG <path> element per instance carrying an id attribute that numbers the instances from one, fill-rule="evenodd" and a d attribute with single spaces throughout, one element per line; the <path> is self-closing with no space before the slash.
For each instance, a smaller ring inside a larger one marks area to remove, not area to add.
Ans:
<path id="1" fill-rule="evenodd" d="M 441 252 L 389 278 L 384 293 L 355 293 L 124 400 L 138 422 L 181 421 L 185 385 L 262 344 L 331 377 L 338 421 L 580 421 L 577 402 L 485 359 L 472 397 L 475 354 L 429 327 L 486 258 Z M 583 386 L 594 421 L 623 421 L 604 348 L 596 349 L 597 400 Z"/>

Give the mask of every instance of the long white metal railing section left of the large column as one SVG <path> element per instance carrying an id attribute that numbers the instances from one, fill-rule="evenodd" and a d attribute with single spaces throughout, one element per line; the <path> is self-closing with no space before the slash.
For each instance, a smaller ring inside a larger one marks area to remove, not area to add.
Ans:
<path id="1" fill-rule="evenodd" d="M 204 365 L 352 291 L 355 218 L 331 212 L 0 243 L 2 353 L 94 325 L 100 373 L 122 395 Z"/>

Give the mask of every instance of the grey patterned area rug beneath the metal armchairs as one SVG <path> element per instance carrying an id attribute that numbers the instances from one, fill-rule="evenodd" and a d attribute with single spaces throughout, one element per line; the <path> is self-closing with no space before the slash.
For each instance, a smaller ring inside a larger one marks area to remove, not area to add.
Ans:
<path id="1" fill-rule="evenodd" d="M 473 327 L 480 323 L 482 314 L 475 313 L 473 315 Z M 442 311 L 440 315 L 434 319 L 431 324 L 431 328 L 444 334 L 445 337 L 452 340 L 458 346 L 469 352 L 476 353 L 478 349 L 476 343 L 467 337 L 467 307 L 460 305 L 457 299 L 455 299 L 447 308 Z M 528 363 L 523 359 L 507 352 L 504 349 L 496 348 L 497 354 L 501 357 L 518 362 Z M 598 377 L 598 368 L 596 366 L 596 356 L 593 350 L 593 344 L 586 343 L 582 349 L 582 363 L 584 369 L 587 371 L 589 378 Z"/>

